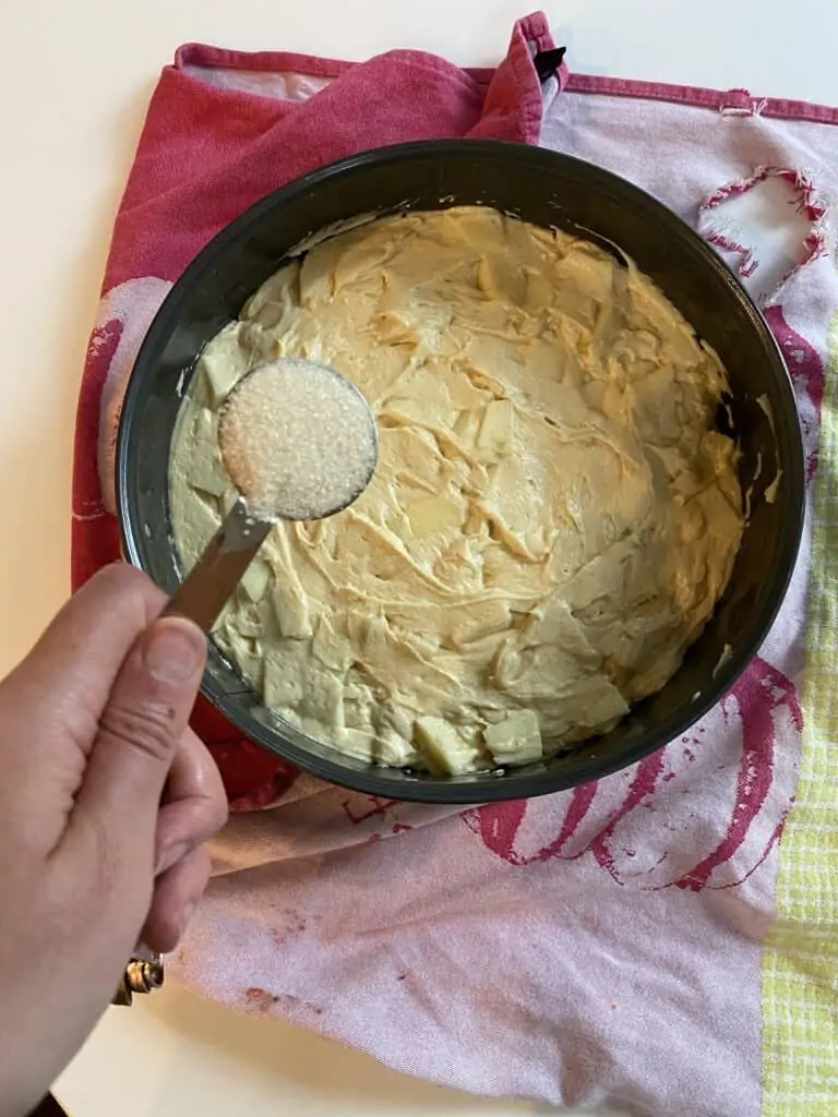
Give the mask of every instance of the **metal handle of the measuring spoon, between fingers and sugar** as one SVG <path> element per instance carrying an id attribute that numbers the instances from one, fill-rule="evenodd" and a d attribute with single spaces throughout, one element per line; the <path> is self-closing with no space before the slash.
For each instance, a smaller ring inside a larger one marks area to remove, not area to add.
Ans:
<path id="1" fill-rule="evenodd" d="M 273 526 L 269 521 L 254 519 L 238 499 L 163 615 L 188 617 L 209 633 Z"/>

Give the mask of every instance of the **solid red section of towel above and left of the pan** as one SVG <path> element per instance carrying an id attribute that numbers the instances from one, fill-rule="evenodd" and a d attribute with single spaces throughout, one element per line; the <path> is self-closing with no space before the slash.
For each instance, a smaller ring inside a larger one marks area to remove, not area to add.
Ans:
<path id="1" fill-rule="evenodd" d="M 384 144 L 451 136 L 537 143 L 533 58 L 553 47 L 542 15 L 515 25 L 497 69 L 416 50 L 349 64 L 182 47 L 154 92 L 114 228 L 76 423 L 73 588 L 120 558 L 114 439 L 125 383 L 163 298 L 198 251 L 291 179 Z M 296 773 L 199 701 L 234 809 L 265 806 Z"/>

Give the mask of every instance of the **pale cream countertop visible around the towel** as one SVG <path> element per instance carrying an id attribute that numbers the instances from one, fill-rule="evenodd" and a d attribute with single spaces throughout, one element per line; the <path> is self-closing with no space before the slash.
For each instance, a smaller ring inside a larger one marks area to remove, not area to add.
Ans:
<path id="1" fill-rule="evenodd" d="M 533 7 L 535 7 L 533 0 Z M 838 104 L 838 7 L 822 0 L 546 0 L 578 70 Z M 0 671 L 68 588 L 76 394 L 111 223 L 155 77 L 189 40 L 363 58 L 503 55 L 525 0 L 0 0 Z M 184 1113 L 535 1113 L 178 991 L 109 1010 L 56 1085 L 72 1117 Z"/>

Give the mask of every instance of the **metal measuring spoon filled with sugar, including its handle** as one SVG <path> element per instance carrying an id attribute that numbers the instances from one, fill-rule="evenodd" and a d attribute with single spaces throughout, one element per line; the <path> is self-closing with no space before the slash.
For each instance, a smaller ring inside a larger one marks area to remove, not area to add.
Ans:
<path id="1" fill-rule="evenodd" d="M 204 632 L 280 519 L 324 519 L 363 493 L 378 462 L 375 419 L 328 365 L 285 357 L 257 365 L 221 410 L 218 440 L 240 496 L 165 608 Z"/>

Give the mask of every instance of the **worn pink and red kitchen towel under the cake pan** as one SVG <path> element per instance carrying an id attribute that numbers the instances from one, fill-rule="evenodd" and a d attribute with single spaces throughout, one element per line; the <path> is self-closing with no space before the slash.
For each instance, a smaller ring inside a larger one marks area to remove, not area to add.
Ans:
<path id="1" fill-rule="evenodd" d="M 752 667 L 639 765 L 465 812 L 297 775 L 200 710 L 239 811 L 168 965 L 223 1004 L 476 1092 L 750 1117 L 762 1099 L 763 943 L 801 753 L 811 490 L 838 307 L 821 183 L 838 173 L 838 113 L 550 76 L 552 49 L 533 16 L 496 71 L 412 51 L 362 65 L 179 52 L 152 102 L 91 342 L 74 577 L 118 555 L 115 418 L 151 318 L 198 249 L 287 179 L 364 146 L 488 135 L 600 163 L 699 228 L 764 306 L 807 450 L 800 561 Z"/>

